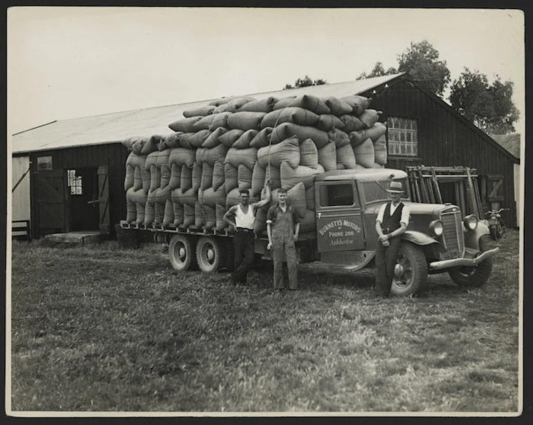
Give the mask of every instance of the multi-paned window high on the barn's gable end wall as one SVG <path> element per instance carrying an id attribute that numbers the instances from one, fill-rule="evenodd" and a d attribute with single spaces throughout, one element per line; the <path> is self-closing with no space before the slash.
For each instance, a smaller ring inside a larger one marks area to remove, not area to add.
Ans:
<path id="1" fill-rule="evenodd" d="M 401 117 L 388 117 L 387 128 L 389 155 L 418 155 L 417 120 Z"/>

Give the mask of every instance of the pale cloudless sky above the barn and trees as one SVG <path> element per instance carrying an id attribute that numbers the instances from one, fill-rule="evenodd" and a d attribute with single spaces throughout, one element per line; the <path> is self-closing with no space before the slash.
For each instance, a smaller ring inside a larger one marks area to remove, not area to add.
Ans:
<path id="1" fill-rule="evenodd" d="M 427 39 L 456 79 L 514 83 L 525 112 L 520 10 L 392 8 L 8 9 L 8 134 L 54 120 L 347 82 Z M 449 95 L 449 93 L 445 93 Z"/>

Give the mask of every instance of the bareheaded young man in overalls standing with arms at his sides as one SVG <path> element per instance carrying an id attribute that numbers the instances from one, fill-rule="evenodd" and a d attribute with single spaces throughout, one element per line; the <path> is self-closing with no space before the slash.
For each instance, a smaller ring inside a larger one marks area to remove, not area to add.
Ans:
<path id="1" fill-rule="evenodd" d="M 283 254 L 287 260 L 289 270 L 289 290 L 298 289 L 298 270 L 296 269 L 296 247 L 300 232 L 300 220 L 296 209 L 287 204 L 287 190 L 278 190 L 278 204 L 269 208 L 266 213 L 266 233 L 269 245 L 266 249 L 273 249 L 274 261 L 274 289 L 283 289 Z"/>

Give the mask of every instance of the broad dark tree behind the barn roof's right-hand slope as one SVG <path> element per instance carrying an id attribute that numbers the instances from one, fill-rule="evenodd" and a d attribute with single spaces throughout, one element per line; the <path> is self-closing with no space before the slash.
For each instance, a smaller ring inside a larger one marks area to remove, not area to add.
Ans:
<path id="1" fill-rule="evenodd" d="M 513 86 L 510 81 L 502 83 L 498 75 L 489 84 L 487 75 L 465 67 L 451 84 L 450 103 L 485 133 L 512 133 L 520 116 L 512 101 Z"/>

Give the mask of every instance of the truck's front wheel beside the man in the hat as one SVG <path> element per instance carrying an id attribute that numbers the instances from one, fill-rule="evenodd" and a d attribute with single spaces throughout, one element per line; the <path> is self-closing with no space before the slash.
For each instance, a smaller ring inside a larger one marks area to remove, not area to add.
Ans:
<path id="1" fill-rule="evenodd" d="M 405 296 L 422 292 L 428 281 L 426 256 L 414 243 L 402 241 L 396 260 L 390 293 Z"/>

